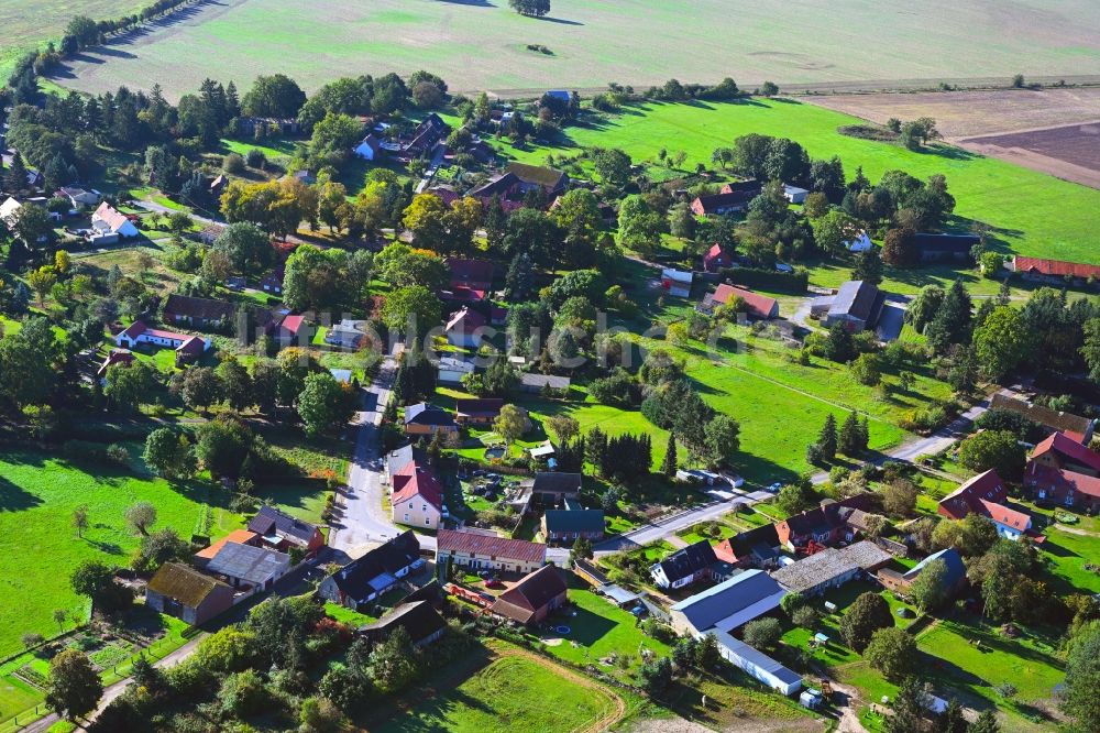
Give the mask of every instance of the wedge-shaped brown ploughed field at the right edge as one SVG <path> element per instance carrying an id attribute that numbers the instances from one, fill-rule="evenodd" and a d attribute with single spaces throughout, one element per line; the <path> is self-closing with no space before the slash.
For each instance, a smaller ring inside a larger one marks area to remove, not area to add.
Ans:
<path id="1" fill-rule="evenodd" d="M 982 155 L 1100 188 L 1100 121 L 966 138 L 958 144 Z"/>

